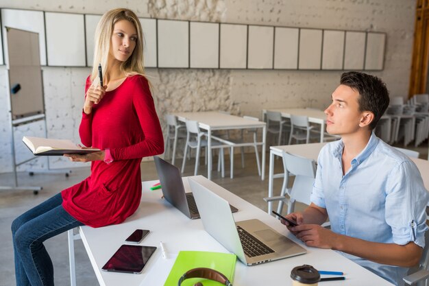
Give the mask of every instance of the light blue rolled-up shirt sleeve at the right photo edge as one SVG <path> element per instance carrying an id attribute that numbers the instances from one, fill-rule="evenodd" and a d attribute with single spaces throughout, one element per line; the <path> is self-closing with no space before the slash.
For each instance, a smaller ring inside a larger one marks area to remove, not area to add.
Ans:
<path id="1" fill-rule="evenodd" d="M 394 243 L 405 245 L 413 241 L 424 248 L 428 200 L 428 191 L 413 162 L 404 161 L 393 168 L 386 184 L 385 215 Z"/>

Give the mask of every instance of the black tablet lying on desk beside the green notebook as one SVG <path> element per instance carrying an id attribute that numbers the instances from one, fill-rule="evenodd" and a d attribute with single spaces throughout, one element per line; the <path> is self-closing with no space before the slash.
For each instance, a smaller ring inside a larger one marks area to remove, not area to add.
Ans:
<path id="1" fill-rule="evenodd" d="M 110 272 L 139 274 L 156 250 L 155 246 L 129 246 L 123 244 L 101 268 Z"/>

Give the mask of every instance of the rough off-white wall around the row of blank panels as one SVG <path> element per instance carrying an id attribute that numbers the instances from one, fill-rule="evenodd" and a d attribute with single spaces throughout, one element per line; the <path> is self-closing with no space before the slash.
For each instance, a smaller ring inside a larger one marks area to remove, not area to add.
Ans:
<path id="1" fill-rule="evenodd" d="M 0 8 L 93 14 L 121 6 L 138 16 L 160 19 L 386 32 L 384 71 L 373 74 L 387 83 L 393 96 L 406 97 L 408 91 L 415 0 L 0 0 Z M 78 142 L 84 82 L 90 69 L 47 67 L 43 71 L 48 134 Z M 4 73 L 0 67 L 0 172 L 12 171 Z M 162 120 L 173 111 L 229 110 L 260 117 L 262 108 L 323 108 L 341 75 L 341 71 L 199 69 L 151 69 L 147 73 Z M 32 132 L 44 132 L 41 127 L 30 126 Z M 21 138 L 18 143 L 22 145 Z M 78 166 L 60 157 L 50 160 L 53 168 Z M 45 168 L 46 159 L 32 161 L 32 165 Z"/>

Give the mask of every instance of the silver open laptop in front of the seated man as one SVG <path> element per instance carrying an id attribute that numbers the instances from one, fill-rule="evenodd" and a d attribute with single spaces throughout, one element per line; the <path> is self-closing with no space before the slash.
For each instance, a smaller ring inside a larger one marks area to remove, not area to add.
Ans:
<path id="1" fill-rule="evenodd" d="M 258 219 L 234 222 L 226 200 L 211 191 L 222 188 L 204 178 L 189 178 L 206 231 L 241 262 L 256 265 L 304 254 L 306 250 Z"/>

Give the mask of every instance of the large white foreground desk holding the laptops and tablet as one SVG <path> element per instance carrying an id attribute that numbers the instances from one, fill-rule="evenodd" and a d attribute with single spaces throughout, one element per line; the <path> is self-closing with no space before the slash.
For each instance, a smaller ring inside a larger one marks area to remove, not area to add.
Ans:
<path id="1" fill-rule="evenodd" d="M 140 207 L 123 224 L 103 228 L 90 228 L 88 226 L 79 228 L 82 241 L 101 286 L 162 286 L 180 250 L 228 252 L 206 233 L 201 219 L 188 219 L 171 204 L 161 199 L 161 191 L 148 191 L 154 182 L 156 181 L 143 182 L 143 198 Z M 184 178 L 184 182 L 186 190 L 189 190 L 187 178 Z M 237 221 L 258 218 L 279 233 L 287 235 L 290 239 L 304 246 L 280 224 L 278 219 L 267 215 L 256 206 L 221 187 L 213 191 L 238 208 L 238 213 L 234 213 L 234 218 Z M 136 228 L 151 230 L 151 233 L 140 245 L 158 247 L 142 274 L 102 272 L 101 267 L 104 263 Z M 160 241 L 165 244 L 168 253 L 167 259 L 162 259 L 159 250 Z M 245 266 L 237 261 L 233 285 L 292 285 L 291 270 L 293 267 L 303 264 L 313 265 L 319 270 L 345 272 L 347 278 L 345 281 L 323 282 L 323 286 L 392 285 L 332 250 L 307 248 L 306 246 L 304 248 L 307 249 L 307 254 L 261 265 Z"/>

